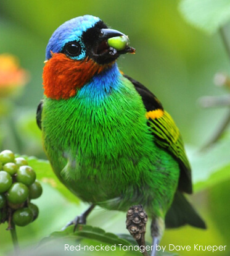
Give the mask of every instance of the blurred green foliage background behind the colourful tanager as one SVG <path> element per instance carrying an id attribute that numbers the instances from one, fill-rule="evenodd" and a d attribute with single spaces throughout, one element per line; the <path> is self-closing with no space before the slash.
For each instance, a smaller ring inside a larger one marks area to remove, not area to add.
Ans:
<path id="1" fill-rule="evenodd" d="M 0 148 L 46 158 L 35 113 L 43 97 L 47 41 L 66 20 L 84 14 L 96 15 L 129 36 L 136 54 L 121 56 L 118 65 L 125 74 L 150 88 L 173 116 L 194 169 L 196 193 L 192 202 L 207 221 L 208 229 L 185 227 L 166 231 L 162 244 L 230 245 L 229 132 L 208 152 L 196 153 L 212 138 L 229 111 L 228 108 L 202 109 L 197 103 L 203 95 L 226 94 L 223 88 L 215 87 L 213 77 L 216 72 L 229 73 L 229 59 L 219 33 L 206 35 L 187 24 L 178 11 L 178 4 L 179 1 L 161 0 L 0 1 L 0 54 L 17 56 L 20 66 L 30 74 L 20 96 L 2 101 L 1 107 L 6 102 L 9 108 L 0 117 Z M 18 228 L 20 243 L 25 246 L 36 244 L 42 237 L 59 230 L 86 208 L 83 203 L 69 202 L 47 184 L 37 201 L 40 218 L 27 228 Z M 125 213 L 97 209 L 89 216 L 88 224 L 113 233 L 127 233 Z M 4 229 L 6 226 L 1 225 L 0 255 L 12 249 L 10 234 Z M 147 240 L 150 241 L 149 230 Z M 179 254 L 210 255 L 212 252 Z M 216 255 L 229 255 L 229 250 Z"/>

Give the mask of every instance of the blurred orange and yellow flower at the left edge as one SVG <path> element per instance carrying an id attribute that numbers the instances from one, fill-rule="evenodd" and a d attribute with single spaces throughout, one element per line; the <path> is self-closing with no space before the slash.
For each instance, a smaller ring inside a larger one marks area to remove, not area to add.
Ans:
<path id="1" fill-rule="evenodd" d="M 28 80 L 28 71 L 20 67 L 16 56 L 0 54 L 0 98 L 18 95 Z"/>

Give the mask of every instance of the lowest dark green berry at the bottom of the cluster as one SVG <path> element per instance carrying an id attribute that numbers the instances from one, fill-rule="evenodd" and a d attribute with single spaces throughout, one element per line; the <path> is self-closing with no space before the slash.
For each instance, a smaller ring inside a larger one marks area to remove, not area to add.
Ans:
<path id="1" fill-rule="evenodd" d="M 27 226 L 33 221 L 33 213 L 29 208 L 21 208 L 14 212 L 12 220 L 17 226 Z"/>

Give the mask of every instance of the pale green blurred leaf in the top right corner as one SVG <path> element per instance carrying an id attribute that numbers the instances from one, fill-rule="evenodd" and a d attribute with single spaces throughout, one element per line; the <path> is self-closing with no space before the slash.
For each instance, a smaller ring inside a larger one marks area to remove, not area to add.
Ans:
<path id="1" fill-rule="evenodd" d="M 212 34 L 230 20 L 230 1 L 181 0 L 179 11 L 187 22 Z"/>

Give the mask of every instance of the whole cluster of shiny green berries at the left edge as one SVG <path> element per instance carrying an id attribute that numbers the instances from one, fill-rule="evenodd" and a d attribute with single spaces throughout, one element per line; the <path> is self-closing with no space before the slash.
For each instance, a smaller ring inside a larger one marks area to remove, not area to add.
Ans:
<path id="1" fill-rule="evenodd" d="M 11 221 L 26 226 L 38 217 L 38 207 L 31 199 L 40 197 L 43 190 L 35 171 L 27 160 L 15 158 L 10 150 L 0 153 L 0 224 Z"/>

